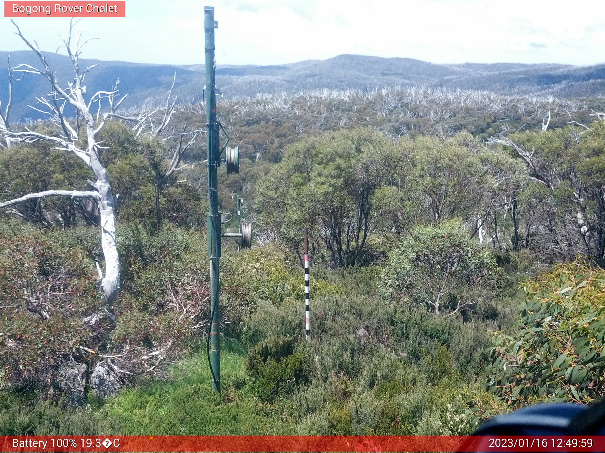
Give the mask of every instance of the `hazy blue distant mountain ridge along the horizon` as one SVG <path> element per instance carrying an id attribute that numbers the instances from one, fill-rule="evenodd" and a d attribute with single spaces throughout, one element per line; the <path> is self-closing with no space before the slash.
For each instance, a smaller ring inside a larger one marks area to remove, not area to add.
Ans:
<path id="1" fill-rule="evenodd" d="M 67 56 L 44 53 L 63 82 L 73 78 Z M 5 62 L 7 52 L 0 52 Z M 32 51 L 11 53 L 11 66 L 39 66 Z M 120 79 L 120 92 L 128 94 L 125 107 L 148 108 L 158 104 L 176 74 L 175 90 L 183 103 L 201 100 L 204 65 L 154 65 L 121 61 L 80 60 L 82 67 L 98 64 L 87 74 L 89 92 L 111 88 Z M 4 72 L 4 71 L 2 71 Z M 0 72 L 0 74 L 2 74 Z M 15 77 L 13 121 L 44 115 L 28 107 L 36 96 L 48 93 L 43 77 Z M 605 95 L 605 64 L 572 66 L 552 63 L 461 63 L 440 65 L 410 58 L 383 58 L 344 54 L 327 60 L 306 60 L 284 65 L 219 65 L 217 86 L 226 97 L 258 93 L 295 93 L 318 88 L 374 89 L 422 85 L 429 88 L 479 89 L 502 94 L 549 94 L 556 97 Z M 7 79 L 0 76 L 0 100 L 8 96 Z"/>

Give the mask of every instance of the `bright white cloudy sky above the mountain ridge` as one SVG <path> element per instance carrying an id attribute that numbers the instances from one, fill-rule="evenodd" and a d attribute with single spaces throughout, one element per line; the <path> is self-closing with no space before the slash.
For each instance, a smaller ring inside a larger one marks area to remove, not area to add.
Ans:
<path id="1" fill-rule="evenodd" d="M 605 62 L 603 0 L 126 0 L 126 18 L 79 23 L 85 37 L 100 38 L 83 57 L 202 63 L 204 4 L 215 7 L 218 64 L 345 53 L 434 63 Z M 9 19 L 0 21 L 0 50 L 24 49 Z M 65 18 L 17 21 L 47 51 L 68 25 Z"/>

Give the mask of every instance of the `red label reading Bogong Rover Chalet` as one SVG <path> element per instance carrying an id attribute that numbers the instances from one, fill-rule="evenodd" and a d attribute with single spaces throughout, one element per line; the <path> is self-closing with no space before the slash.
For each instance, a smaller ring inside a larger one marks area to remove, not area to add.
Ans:
<path id="1" fill-rule="evenodd" d="M 125 18 L 126 1 L 4 1 L 5 18 Z"/>

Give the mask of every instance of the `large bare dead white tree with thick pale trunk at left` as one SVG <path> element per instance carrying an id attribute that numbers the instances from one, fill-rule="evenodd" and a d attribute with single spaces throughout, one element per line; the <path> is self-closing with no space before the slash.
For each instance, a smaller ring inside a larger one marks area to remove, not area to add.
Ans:
<path id="1" fill-rule="evenodd" d="M 79 56 L 82 53 L 82 47 L 86 42 L 80 44 L 81 33 L 75 39 L 72 38 L 73 22 L 70 22 L 70 30 L 67 39 L 63 39 L 64 47 L 71 59 L 71 64 L 74 70 L 74 79 L 65 85 L 61 85 L 57 79 L 56 72 L 48 65 L 44 54 L 40 51 L 38 43 L 33 44 L 25 38 L 21 33 L 18 25 L 14 22 L 16 34 L 25 42 L 36 55 L 41 63 L 39 68 L 31 65 L 21 64 L 15 66 L 9 72 L 9 80 L 11 80 L 12 72 L 21 72 L 23 74 L 36 74 L 45 77 L 50 83 L 51 91 L 47 96 L 36 98 L 39 107 L 33 107 L 39 112 L 47 114 L 49 120 L 56 124 L 59 131 L 56 135 L 46 135 L 38 133 L 28 127 L 14 127 L 7 121 L 7 115 L 2 118 L 0 123 L 0 138 L 10 143 L 33 143 L 36 141 L 48 141 L 56 147 L 54 149 L 65 150 L 72 152 L 83 162 L 85 162 L 96 178 L 96 181 L 88 181 L 93 190 L 76 191 L 76 190 L 48 190 L 40 193 L 30 193 L 21 198 L 13 199 L 0 203 L 0 208 L 6 208 L 18 204 L 19 202 L 29 199 L 43 199 L 51 196 L 65 196 L 71 198 L 90 199 L 96 202 L 100 217 L 100 233 L 103 257 L 105 259 L 105 275 L 97 263 L 99 272 L 100 290 L 102 291 L 103 300 L 108 307 L 111 316 L 113 317 L 113 303 L 116 300 L 118 289 L 120 288 L 119 277 L 119 257 L 116 246 L 116 215 L 115 215 L 115 199 L 111 191 L 110 178 L 107 170 L 100 161 L 100 155 L 103 149 L 102 143 L 97 140 L 99 132 L 105 125 L 105 121 L 109 118 L 118 120 L 127 120 L 134 122 L 134 130 L 141 131 L 148 125 L 149 115 L 140 115 L 139 118 L 129 118 L 117 114 L 116 109 L 125 97 L 118 100 L 117 83 L 111 91 L 97 91 L 91 95 L 88 101 L 84 95 L 87 92 L 85 85 L 85 77 L 87 73 L 96 65 L 88 66 L 85 69 L 80 69 Z M 100 103 L 106 100 L 110 106 L 110 111 L 100 114 Z M 94 104 L 99 104 L 97 112 L 97 122 L 91 108 Z M 76 111 L 76 115 L 82 121 L 70 121 L 65 114 L 65 107 L 72 106 Z M 85 127 L 85 138 L 80 138 L 80 127 Z M 139 132 L 140 133 L 140 132 Z"/>

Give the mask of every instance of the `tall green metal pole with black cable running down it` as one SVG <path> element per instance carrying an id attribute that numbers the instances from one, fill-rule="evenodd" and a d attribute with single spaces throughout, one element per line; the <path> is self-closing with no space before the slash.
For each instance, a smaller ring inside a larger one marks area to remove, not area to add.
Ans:
<path id="1" fill-rule="evenodd" d="M 220 341 L 220 305 L 218 304 L 218 259 L 221 255 L 220 227 L 218 213 L 219 164 L 217 101 L 214 94 L 214 7 L 204 7 L 204 37 L 206 51 L 206 137 L 208 138 L 208 201 L 209 213 L 206 230 L 208 231 L 208 255 L 211 263 L 211 328 L 210 356 L 212 372 L 212 390 L 221 391 L 221 341 Z"/>

